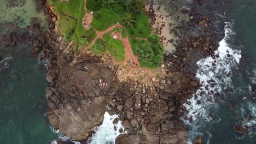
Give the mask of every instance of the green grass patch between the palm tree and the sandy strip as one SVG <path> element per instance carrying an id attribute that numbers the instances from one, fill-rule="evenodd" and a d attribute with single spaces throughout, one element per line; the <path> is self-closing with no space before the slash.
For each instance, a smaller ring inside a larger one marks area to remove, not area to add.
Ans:
<path id="1" fill-rule="evenodd" d="M 145 14 L 137 14 L 135 16 L 135 20 L 137 21 L 132 27 L 125 27 L 126 31 L 132 38 L 146 38 L 152 31 L 149 27 L 148 17 Z"/>

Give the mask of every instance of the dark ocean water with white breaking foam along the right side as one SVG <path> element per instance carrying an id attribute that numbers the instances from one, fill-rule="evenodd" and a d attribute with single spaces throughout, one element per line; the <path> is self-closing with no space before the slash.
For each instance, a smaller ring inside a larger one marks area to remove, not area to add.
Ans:
<path id="1" fill-rule="evenodd" d="M 203 94 L 186 105 L 193 117 L 188 123 L 189 142 L 201 135 L 205 143 L 256 143 L 256 95 L 252 93 L 256 82 L 256 1 L 205 0 L 197 10 L 211 17 L 216 26 L 225 25 L 225 38 L 216 51 L 220 56 L 216 67 L 211 66 L 211 58 L 197 63 L 202 84 L 197 94 L 207 93 L 207 80 L 214 80 L 217 85 L 208 89 L 220 95 Z M 221 27 L 216 31 L 222 31 Z M 202 104 L 197 105 L 197 100 Z M 247 127 L 246 133 L 237 133 L 237 125 Z"/>

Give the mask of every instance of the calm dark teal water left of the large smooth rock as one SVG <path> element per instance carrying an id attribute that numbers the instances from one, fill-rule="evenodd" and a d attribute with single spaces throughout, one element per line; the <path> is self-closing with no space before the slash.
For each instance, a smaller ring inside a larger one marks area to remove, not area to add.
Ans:
<path id="1" fill-rule="evenodd" d="M 25 54 L 28 46 L 19 45 L 5 73 L 0 75 L 0 141 L 48 143 L 56 135 L 51 131 L 45 101 L 46 71 L 37 58 Z M 24 51 L 22 53 L 22 51 Z"/>

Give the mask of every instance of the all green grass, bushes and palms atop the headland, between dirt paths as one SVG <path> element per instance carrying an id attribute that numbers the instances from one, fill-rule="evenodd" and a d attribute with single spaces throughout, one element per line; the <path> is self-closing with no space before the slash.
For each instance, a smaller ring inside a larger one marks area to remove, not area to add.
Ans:
<path id="1" fill-rule="evenodd" d="M 57 27 L 67 41 L 73 40 L 78 44 L 74 47 L 75 50 L 83 48 L 96 38 L 94 29 L 85 30 L 82 25 L 85 14 L 83 0 L 70 0 L 68 3 L 56 0 L 48 0 L 48 2 L 49 4 L 55 3 L 56 12 L 60 15 Z M 92 27 L 97 31 L 104 31 L 113 23 L 121 23 L 124 25 L 121 35 L 123 38 L 129 38 L 132 51 L 138 56 L 140 65 L 147 68 L 156 68 L 162 63 L 164 49 L 159 36 L 150 34 L 152 29 L 149 27 L 148 18 L 144 14 L 146 12 L 144 6 L 144 0 L 86 0 L 88 10 L 94 11 Z M 119 30 L 119 27 L 113 29 L 113 31 Z M 103 36 L 106 51 L 113 55 L 115 61 L 124 61 L 125 50 L 122 41 L 114 40 L 109 35 L 110 33 Z M 135 38 L 148 39 L 139 40 Z M 96 40 L 96 43 L 92 46 L 92 51 L 95 55 L 105 52 L 102 39 Z"/>

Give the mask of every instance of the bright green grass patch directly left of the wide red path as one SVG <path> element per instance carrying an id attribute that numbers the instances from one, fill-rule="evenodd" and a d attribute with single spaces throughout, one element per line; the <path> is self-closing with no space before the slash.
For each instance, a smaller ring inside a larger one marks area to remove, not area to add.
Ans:
<path id="1" fill-rule="evenodd" d="M 104 35 L 107 51 L 114 57 L 116 62 L 124 62 L 125 50 L 121 40 L 109 37 L 109 34 Z"/>

